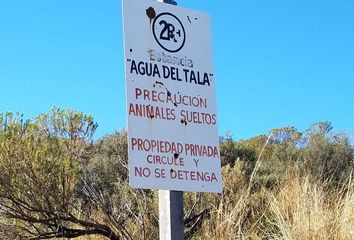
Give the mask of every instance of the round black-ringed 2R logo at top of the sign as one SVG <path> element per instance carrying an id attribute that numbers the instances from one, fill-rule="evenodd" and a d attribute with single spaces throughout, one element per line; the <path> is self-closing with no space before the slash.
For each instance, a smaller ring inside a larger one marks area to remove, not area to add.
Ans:
<path id="1" fill-rule="evenodd" d="M 182 22 L 171 13 L 160 13 L 154 19 L 152 30 L 156 42 L 164 50 L 178 52 L 186 41 Z"/>

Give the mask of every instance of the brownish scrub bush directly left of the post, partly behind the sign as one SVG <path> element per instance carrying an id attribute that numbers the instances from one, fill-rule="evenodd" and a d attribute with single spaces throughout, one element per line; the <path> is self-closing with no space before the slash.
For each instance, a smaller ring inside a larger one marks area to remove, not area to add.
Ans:
<path id="1" fill-rule="evenodd" d="M 127 132 L 107 135 L 93 149 L 78 188 L 86 211 L 104 217 L 124 239 L 158 238 L 157 195 L 128 184 Z"/>

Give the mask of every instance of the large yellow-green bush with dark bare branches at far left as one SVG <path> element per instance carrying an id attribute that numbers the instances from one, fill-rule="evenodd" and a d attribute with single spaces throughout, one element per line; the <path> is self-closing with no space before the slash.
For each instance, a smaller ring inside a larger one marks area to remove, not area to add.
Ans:
<path id="1" fill-rule="evenodd" d="M 0 229 L 4 238 L 119 236 L 76 196 L 87 146 L 97 128 L 90 115 L 53 108 L 35 120 L 0 116 Z M 87 156 L 86 156 L 87 159 Z"/>

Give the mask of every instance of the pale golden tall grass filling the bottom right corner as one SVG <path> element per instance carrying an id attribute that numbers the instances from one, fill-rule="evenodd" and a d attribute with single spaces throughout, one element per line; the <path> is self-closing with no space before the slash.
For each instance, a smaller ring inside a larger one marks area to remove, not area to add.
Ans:
<path id="1" fill-rule="evenodd" d="M 272 239 L 354 239 L 354 189 L 351 181 L 341 190 L 310 182 L 298 174 L 269 195 L 275 233 Z"/>

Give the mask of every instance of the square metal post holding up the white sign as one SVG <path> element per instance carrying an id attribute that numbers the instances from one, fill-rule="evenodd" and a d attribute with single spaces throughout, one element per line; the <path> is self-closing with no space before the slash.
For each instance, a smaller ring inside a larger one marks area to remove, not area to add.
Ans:
<path id="1" fill-rule="evenodd" d="M 173 0 L 157 0 L 177 5 Z M 184 240 L 183 192 L 159 190 L 160 240 Z"/>

